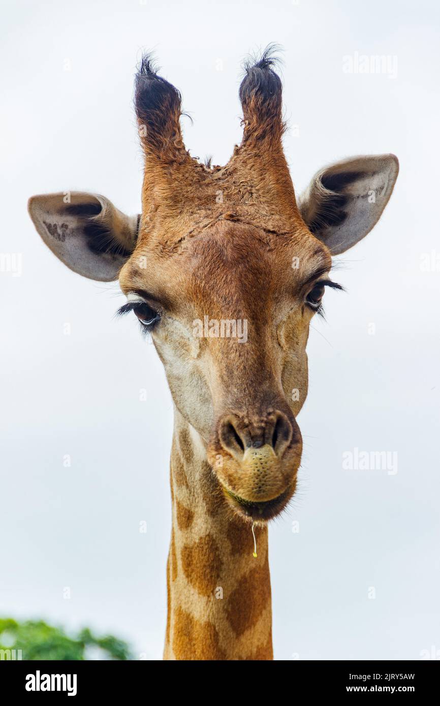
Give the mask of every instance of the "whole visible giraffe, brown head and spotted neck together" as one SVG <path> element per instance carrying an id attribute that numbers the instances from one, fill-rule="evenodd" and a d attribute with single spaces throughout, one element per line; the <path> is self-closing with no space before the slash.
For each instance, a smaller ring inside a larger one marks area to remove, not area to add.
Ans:
<path id="1" fill-rule="evenodd" d="M 332 256 L 374 227 L 398 175 L 394 155 L 352 157 L 296 198 L 270 49 L 245 65 L 239 98 L 241 144 L 225 166 L 202 164 L 183 143 L 179 91 L 143 56 L 141 214 L 83 192 L 28 205 L 71 270 L 119 278 L 119 313 L 136 315 L 165 366 L 174 433 L 164 659 L 273 659 L 268 521 L 297 484 L 309 323 L 326 287 L 341 288 Z"/>

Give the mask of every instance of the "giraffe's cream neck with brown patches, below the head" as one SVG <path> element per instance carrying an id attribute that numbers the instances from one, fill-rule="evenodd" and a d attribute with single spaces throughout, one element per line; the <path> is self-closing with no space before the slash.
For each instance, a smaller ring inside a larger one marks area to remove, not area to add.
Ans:
<path id="1" fill-rule="evenodd" d="M 164 659 L 272 659 L 267 527 L 232 515 L 200 436 L 175 412 Z"/>

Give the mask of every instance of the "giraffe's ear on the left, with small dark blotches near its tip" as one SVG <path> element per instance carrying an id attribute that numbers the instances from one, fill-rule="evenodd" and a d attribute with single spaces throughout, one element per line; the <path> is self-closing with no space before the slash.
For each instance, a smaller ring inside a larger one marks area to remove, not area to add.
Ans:
<path id="1" fill-rule="evenodd" d="M 104 196 L 47 193 L 32 196 L 28 210 L 49 249 L 90 280 L 116 280 L 136 245 L 139 216 L 126 216 Z"/>

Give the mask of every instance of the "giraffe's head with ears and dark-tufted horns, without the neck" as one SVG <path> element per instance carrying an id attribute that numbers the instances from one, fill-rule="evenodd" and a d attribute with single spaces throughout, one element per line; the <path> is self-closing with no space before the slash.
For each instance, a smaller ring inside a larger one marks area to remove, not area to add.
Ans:
<path id="1" fill-rule="evenodd" d="M 206 449 L 235 513 L 268 520 L 295 492 L 296 421 L 306 345 L 331 258 L 376 224 L 393 191 L 393 155 L 321 169 L 295 198 L 283 154 L 281 82 L 268 53 L 239 89 L 242 143 L 225 167 L 186 151 L 181 97 L 145 57 L 135 107 L 145 155 L 142 213 L 71 192 L 30 199 L 44 242 L 84 277 L 119 277 L 150 333 L 174 403 Z"/>

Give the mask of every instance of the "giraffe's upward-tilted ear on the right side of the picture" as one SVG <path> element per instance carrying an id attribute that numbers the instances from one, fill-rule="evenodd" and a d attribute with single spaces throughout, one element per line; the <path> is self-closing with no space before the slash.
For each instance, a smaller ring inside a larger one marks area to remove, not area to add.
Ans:
<path id="1" fill-rule="evenodd" d="M 324 167 L 299 198 L 309 230 L 338 255 L 376 225 L 396 184 L 395 155 L 352 157 Z"/>

